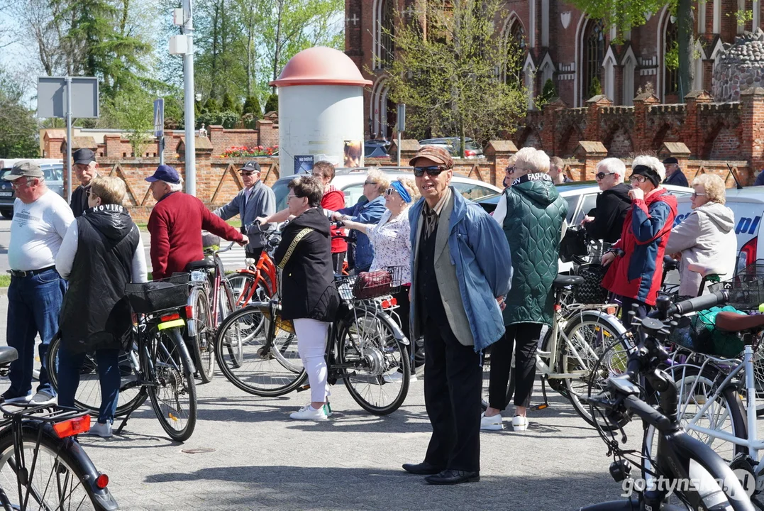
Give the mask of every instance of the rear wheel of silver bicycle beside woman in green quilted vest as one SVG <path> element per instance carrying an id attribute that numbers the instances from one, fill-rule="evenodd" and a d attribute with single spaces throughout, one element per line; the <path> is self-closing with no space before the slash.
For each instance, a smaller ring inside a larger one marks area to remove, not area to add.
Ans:
<path id="1" fill-rule="evenodd" d="M 607 377 L 620 370 L 621 364 L 625 367 L 631 349 L 630 338 L 615 317 L 594 311 L 575 312 L 568 316 L 561 335 L 559 349 L 562 357 L 556 372 L 575 375 L 563 379 L 566 397 L 582 419 L 595 425 L 591 407 L 582 403 L 581 397 L 588 396 L 590 391 L 597 393 L 604 390 Z M 610 353 L 609 363 L 597 364 L 606 351 Z M 601 370 L 595 372 L 595 365 Z M 604 429 L 617 427 L 601 419 L 598 423 Z"/>

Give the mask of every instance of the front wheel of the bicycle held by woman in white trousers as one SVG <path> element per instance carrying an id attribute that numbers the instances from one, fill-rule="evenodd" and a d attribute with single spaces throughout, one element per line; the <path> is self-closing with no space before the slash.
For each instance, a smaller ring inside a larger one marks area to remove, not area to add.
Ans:
<path id="1" fill-rule="evenodd" d="M 258 325 L 264 325 L 264 328 Z M 232 363 L 223 339 L 231 339 L 241 346 L 241 364 Z M 250 306 L 229 315 L 220 325 L 215 348 L 225 377 L 239 389 L 255 396 L 283 396 L 307 378 L 297 353 L 295 335 L 266 319 L 259 307 Z"/>

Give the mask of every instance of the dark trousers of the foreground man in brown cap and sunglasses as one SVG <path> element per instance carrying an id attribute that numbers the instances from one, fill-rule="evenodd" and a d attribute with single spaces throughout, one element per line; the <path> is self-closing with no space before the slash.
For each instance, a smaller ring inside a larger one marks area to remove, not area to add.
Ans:
<path id="1" fill-rule="evenodd" d="M 448 321 L 425 322 L 425 407 L 432 437 L 425 461 L 457 471 L 480 470 L 482 369 L 472 346 Z"/>

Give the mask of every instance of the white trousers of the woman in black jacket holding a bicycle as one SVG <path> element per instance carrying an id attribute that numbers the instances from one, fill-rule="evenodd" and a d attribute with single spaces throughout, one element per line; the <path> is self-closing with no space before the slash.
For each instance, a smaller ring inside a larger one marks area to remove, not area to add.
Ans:
<path id="1" fill-rule="evenodd" d="M 310 400 L 323 403 L 329 396 L 329 384 L 326 383 L 326 334 L 329 323 L 316 319 L 294 319 L 294 331 L 297 335 L 297 351 L 308 373 Z"/>

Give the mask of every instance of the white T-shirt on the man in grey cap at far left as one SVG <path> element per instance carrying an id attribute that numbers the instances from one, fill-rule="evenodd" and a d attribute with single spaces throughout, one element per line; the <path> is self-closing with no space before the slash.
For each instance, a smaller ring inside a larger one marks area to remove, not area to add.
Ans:
<path id="1" fill-rule="evenodd" d="M 74 221 L 72 209 L 56 192 L 47 190 L 40 199 L 13 203 L 8 265 L 11 270 L 40 270 L 55 266 L 66 229 Z"/>

